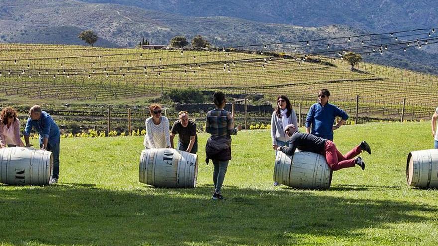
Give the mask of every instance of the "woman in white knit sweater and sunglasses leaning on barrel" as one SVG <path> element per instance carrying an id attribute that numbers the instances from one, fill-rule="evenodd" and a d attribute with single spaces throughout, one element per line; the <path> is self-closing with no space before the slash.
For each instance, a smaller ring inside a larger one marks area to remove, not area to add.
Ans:
<path id="1" fill-rule="evenodd" d="M 146 119 L 146 136 L 144 136 L 144 147 L 170 148 L 169 120 L 161 115 L 162 109 L 159 104 L 152 104 L 149 107 L 151 117 Z"/>

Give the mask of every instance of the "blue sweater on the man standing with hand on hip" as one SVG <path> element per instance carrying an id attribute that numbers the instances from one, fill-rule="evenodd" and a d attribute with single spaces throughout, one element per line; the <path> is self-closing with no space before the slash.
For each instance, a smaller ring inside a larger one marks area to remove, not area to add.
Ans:
<path id="1" fill-rule="evenodd" d="M 333 140 L 333 123 L 336 116 L 343 120 L 348 119 L 347 113 L 333 104 L 327 103 L 324 107 L 315 103 L 309 108 L 306 118 L 306 127 L 311 127 L 311 133 L 315 136 Z"/>

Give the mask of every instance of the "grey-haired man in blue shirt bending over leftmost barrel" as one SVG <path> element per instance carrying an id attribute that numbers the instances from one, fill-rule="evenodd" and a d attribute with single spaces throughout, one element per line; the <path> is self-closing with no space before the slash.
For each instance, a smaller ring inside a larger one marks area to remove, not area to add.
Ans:
<path id="1" fill-rule="evenodd" d="M 51 151 L 53 155 L 53 175 L 49 183 L 58 183 L 59 143 L 61 140 L 59 128 L 52 117 L 47 112 L 42 111 L 39 105 L 31 107 L 29 113 L 30 116 L 27 119 L 26 128 L 23 133 L 26 147 L 30 147 L 29 135 L 32 128 L 34 128 L 39 133 L 40 148 Z"/>

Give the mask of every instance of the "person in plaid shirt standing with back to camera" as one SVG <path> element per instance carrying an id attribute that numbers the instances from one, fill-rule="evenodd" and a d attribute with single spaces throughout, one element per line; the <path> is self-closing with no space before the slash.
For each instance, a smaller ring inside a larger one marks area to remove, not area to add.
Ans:
<path id="1" fill-rule="evenodd" d="M 231 160 L 231 135 L 237 135 L 237 131 L 242 130 L 242 126 L 236 128 L 233 123 L 233 115 L 224 110 L 226 99 L 225 94 L 216 92 L 213 94 L 213 102 L 216 109 L 207 112 L 206 132 L 211 136 L 206 144 L 206 162 L 213 161 L 213 183 L 215 192 L 213 200 L 222 200 L 221 188 L 225 179 L 228 162 Z"/>

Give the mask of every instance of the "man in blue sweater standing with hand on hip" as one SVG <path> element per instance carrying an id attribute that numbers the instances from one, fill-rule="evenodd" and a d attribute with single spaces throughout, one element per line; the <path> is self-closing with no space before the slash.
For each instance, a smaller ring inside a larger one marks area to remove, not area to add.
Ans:
<path id="1" fill-rule="evenodd" d="M 322 89 L 318 93 L 318 103 L 309 108 L 306 118 L 306 133 L 333 141 L 333 131 L 339 129 L 348 119 L 347 113 L 329 103 L 330 91 Z M 333 125 L 336 116 L 341 120 Z M 312 128 L 311 128 L 312 127 Z"/>

